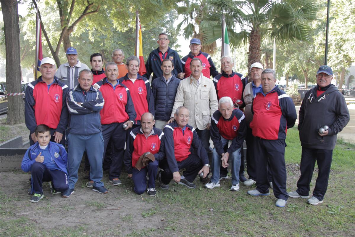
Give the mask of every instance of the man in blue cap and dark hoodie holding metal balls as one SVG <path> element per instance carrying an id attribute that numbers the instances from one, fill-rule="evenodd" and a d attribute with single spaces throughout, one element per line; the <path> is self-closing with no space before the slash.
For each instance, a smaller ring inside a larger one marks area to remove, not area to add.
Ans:
<path id="1" fill-rule="evenodd" d="M 288 193 L 291 198 L 310 197 L 310 182 L 317 161 L 316 186 L 312 198 L 307 200 L 312 205 L 323 203 L 337 134 L 350 120 L 342 93 L 331 84 L 333 79 L 331 67 L 320 66 L 316 78 L 317 86 L 306 92 L 299 112 L 298 130 L 302 146 L 301 177 L 297 182 L 297 190 Z"/>

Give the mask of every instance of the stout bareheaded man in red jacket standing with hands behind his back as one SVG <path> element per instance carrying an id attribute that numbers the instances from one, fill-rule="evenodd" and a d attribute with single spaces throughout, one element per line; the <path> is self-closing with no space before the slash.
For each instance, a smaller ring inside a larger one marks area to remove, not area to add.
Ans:
<path id="1" fill-rule="evenodd" d="M 275 71 L 265 69 L 261 74 L 263 90 L 258 92 L 252 104 L 254 149 L 257 164 L 256 189 L 248 191 L 253 196 L 269 195 L 267 165 L 272 174 L 275 203 L 284 207 L 286 192 L 285 139 L 286 131 L 295 125 L 297 114 L 292 99 L 275 86 Z"/>

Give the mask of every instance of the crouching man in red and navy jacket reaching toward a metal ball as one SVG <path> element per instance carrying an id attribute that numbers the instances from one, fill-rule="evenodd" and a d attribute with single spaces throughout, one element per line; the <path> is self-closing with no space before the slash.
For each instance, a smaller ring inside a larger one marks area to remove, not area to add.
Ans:
<path id="1" fill-rule="evenodd" d="M 159 185 L 163 189 L 169 188 L 173 178 L 175 182 L 188 188 L 196 188 L 192 183 L 197 174 L 203 172 L 206 178 L 209 172 L 208 156 L 196 130 L 187 124 L 190 111 L 185 106 L 176 109 L 172 123 L 165 125 L 165 153 L 166 160 L 160 162 L 164 172 L 159 174 Z M 197 154 L 191 153 L 191 145 Z M 179 169 L 185 168 L 184 175 L 180 176 Z"/>

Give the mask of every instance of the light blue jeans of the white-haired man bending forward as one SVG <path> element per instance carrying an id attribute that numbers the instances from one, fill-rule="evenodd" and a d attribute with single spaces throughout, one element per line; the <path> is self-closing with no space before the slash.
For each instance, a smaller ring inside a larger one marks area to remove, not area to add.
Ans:
<path id="1" fill-rule="evenodd" d="M 227 139 L 224 139 L 221 136 L 221 141 L 222 141 L 222 146 L 224 147 L 226 144 L 228 144 Z M 229 154 L 229 163 L 231 163 L 232 168 L 232 184 L 239 184 L 239 169 L 240 169 L 240 148 L 234 151 L 233 153 Z M 220 174 L 220 166 L 221 166 L 221 160 L 222 156 L 218 154 L 215 148 L 213 148 L 212 152 L 212 177 L 211 177 L 211 182 L 213 183 L 218 183 L 219 182 L 219 174 Z"/>

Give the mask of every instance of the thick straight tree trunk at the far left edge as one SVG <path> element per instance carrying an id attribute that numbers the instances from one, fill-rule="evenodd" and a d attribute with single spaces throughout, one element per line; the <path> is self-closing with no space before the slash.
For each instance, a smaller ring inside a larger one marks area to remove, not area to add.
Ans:
<path id="1" fill-rule="evenodd" d="M 4 18 L 7 93 L 21 93 L 20 28 L 17 0 L 0 0 Z M 7 97 L 7 124 L 24 122 L 22 95 Z"/>

